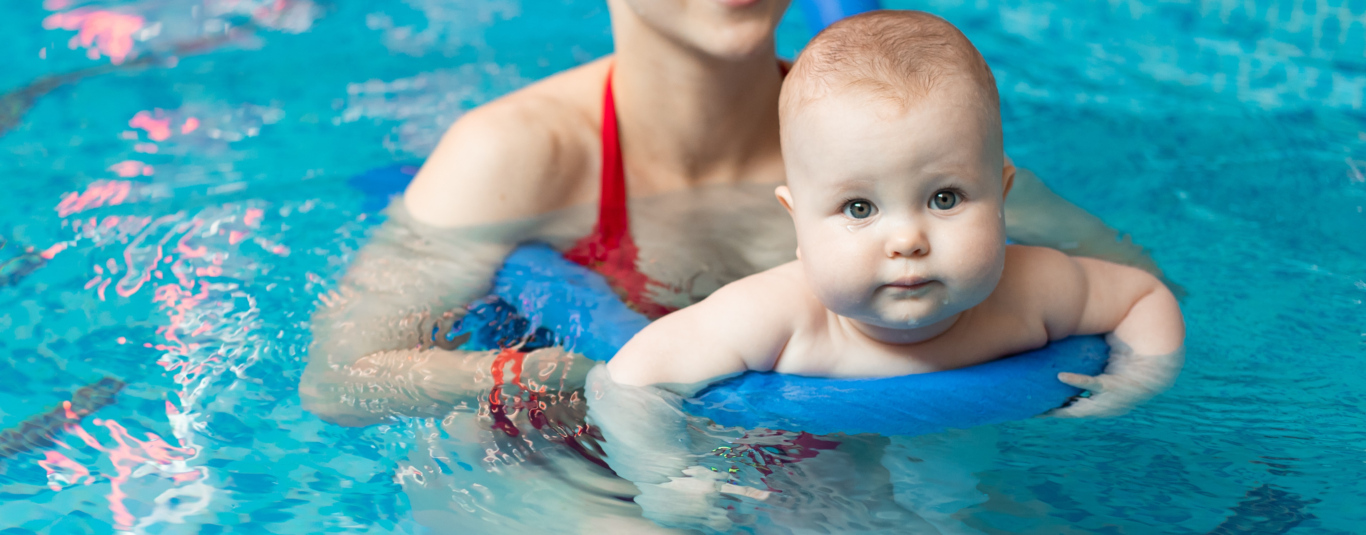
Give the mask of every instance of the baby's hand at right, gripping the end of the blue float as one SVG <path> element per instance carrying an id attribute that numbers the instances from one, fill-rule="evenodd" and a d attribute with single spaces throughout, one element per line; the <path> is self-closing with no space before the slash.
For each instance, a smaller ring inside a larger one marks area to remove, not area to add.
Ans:
<path id="1" fill-rule="evenodd" d="M 1057 374 L 1057 379 L 1079 389 L 1090 390 L 1090 397 L 1082 397 L 1067 407 L 1044 414 L 1053 418 L 1111 418 L 1119 416 L 1143 401 L 1153 399 L 1172 386 L 1182 366 L 1186 364 L 1186 349 L 1167 355 L 1134 355 L 1134 351 L 1113 334 L 1106 336 L 1111 344 L 1109 363 L 1100 375 L 1071 373 Z"/>

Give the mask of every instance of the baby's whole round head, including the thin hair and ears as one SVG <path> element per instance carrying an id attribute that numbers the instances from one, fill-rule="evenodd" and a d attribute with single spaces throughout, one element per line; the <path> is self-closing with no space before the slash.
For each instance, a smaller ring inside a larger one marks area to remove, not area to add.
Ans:
<path id="1" fill-rule="evenodd" d="M 828 308 L 933 330 L 992 293 L 1015 171 L 992 71 L 953 25 L 918 11 L 831 25 L 792 66 L 780 117 L 777 194 Z"/>

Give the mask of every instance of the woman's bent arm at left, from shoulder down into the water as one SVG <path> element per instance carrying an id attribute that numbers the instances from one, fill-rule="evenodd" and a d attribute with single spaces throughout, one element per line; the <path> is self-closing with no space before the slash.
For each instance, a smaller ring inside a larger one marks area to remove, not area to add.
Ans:
<path id="1" fill-rule="evenodd" d="M 452 126 L 340 288 L 320 299 L 299 384 L 306 409 L 365 426 L 393 414 L 444 415 L 493 386 L 493 355 L 456 351 L 445 332 L 488 293 L 512 248 L 560 244 L 590 222 L 560 210 L 579 201 L 583 182 L 576 151 L 556 132 L 564 121 L 527 100 L 514 94 Z M 545 355 L 529 356 L 526 367 L 550 364 L 538 362 Z"/>

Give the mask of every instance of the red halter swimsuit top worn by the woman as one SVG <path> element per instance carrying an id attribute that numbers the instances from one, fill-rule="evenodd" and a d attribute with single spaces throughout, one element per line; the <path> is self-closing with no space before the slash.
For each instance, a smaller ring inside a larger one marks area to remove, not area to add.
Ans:
<path id="1" fill-rule="evenodd" d="M 650 319 L 675 311 L 649 298 L 652 287 L 668 285 L 641 273 L 635 268 L 638 257 L 639 248 L 631 239 L 631 221 L 626 212 L 626 167 L 617 135 L 616 100 L 612 98 L 612 74 L 608 71 L 602 97 L 602 198 L 598 220 L 593 233 L 564 251 L 564 258 L 601 273 L 627 306 Z"/>

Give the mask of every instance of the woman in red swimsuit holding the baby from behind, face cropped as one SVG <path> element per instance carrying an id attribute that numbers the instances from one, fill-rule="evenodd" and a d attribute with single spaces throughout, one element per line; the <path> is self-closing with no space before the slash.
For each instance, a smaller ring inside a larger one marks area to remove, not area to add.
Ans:
<path id="1" fill-rule="evenodd" d="M 441 334 L 467 303 L 488 292 L 503 258 L 525 242 L 550 243 L 598 270 L 647 315 L 792 259 L 792 225 L 773 198 L 784 180 L 777 96 L 785 70 L 775 55 L 773 30 L 787 5 L 608 0 L 613 56 L 462 117 L 391 206 L 389 221 L 358 254 L 343 289 L 317 313 L 299 389 L 305 407 L 347 426 L 393 414 L 445 416 L 447 435 L 484 438 L 421 452 L 413 459 L 414 474 L 445 474 L 440 465 L 451 463 L 437 463 L 441 454 L 430 453 L 443 448 L 469 456 L 486 452 L 488 469 L 578 471 L 559 475 L 567 482 L 561 487 L 582 487 L 582 495 L 537 501 L 579 505 L 542 505 L 537 515 L 613 517 L 632 530 L 650 528 L 631 524 L 639 519 L 632 516 L 630 485 L 591 463 L 548 460 L 594 459 L 576 396 L 556 394 L 563 403 L 548 403 L 544 414 L 510 411 L 496 393 L 493 404 L 478 407 L 505 367 L 500 362 L 490 374 L 497 355 L 454 351 Z M 1071 243 L 1074 254 L 1153 268 L 1138 247 L 1116 242 L 1115 231 L 1029 172 L 1016 177 L 1007 218 L 1018 242 Z M 525 359 L 522 370 L 542 375 L 557 367 L 567 392 L 582 385 L 589 367 L 550 349 Z M 462 407 L 469 414 L 460 415 Z M 510 422 L 510 414 L 522 419 L 490 430 L 490 419 Z M 425 478 L 406 482 L 414 509 L 422 509 L 426 494 L 418 489 L 429 486 Z M 518 478 L 503 474 L 475 486 L 505 486 L 511 479 Z M 516 493 L 507 489 L 507 495 Z M 470 500 L 460 505 L 467 513 L 505 520 L 489 509 L 497 500 Z M 432 505 L 443 508 L 451 509 L 449 502 Z M 423 523 L 464 515 L 451 510 L 432 512 Z"/>

